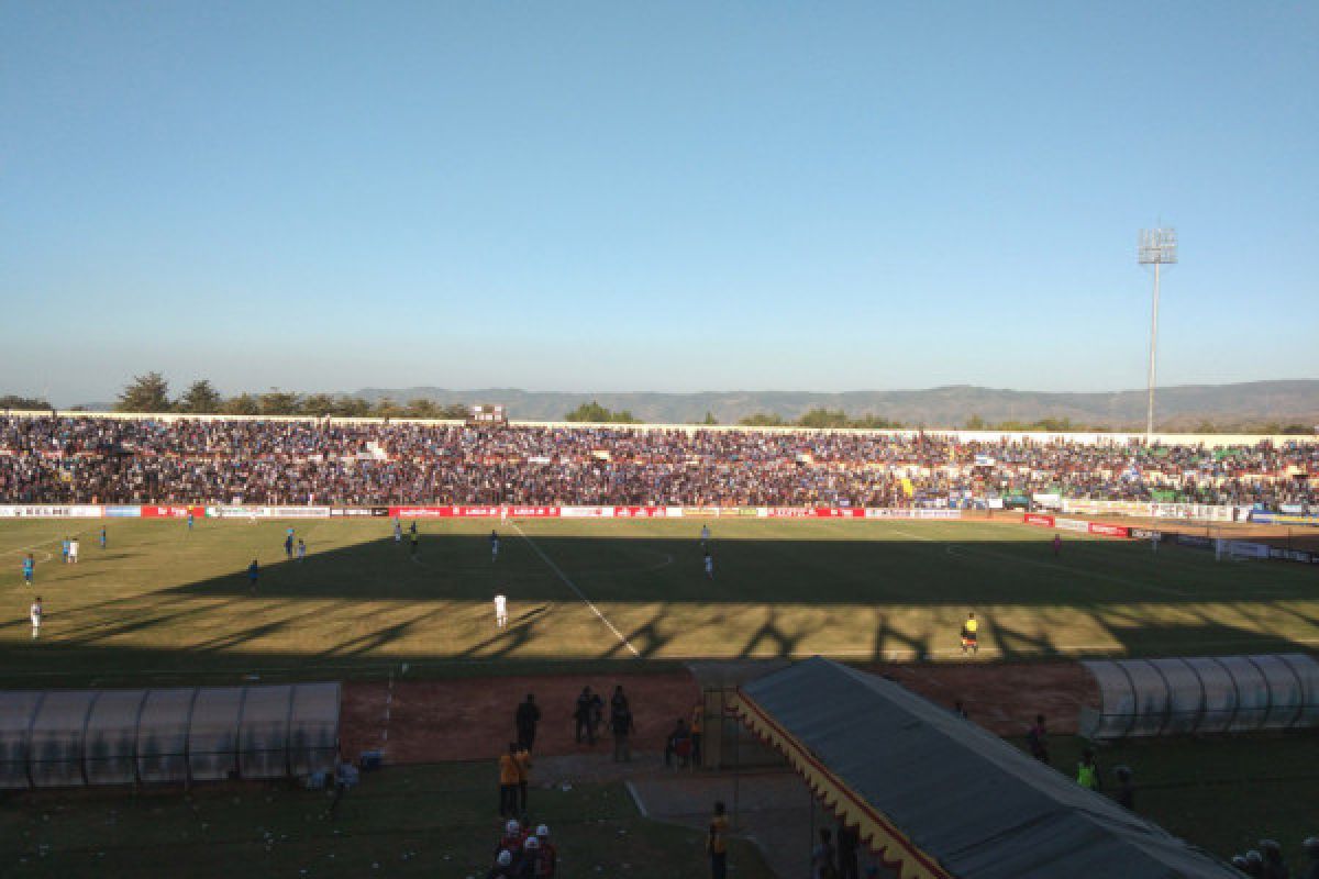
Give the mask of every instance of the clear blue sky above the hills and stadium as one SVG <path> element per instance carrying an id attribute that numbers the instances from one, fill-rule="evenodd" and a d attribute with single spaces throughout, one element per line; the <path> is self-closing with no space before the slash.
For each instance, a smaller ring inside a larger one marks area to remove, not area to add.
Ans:
<path id="1" fill-rule="evenodd" d="M 0 393 L 1319 377 L 1314 3 L 5 3 Z"/>

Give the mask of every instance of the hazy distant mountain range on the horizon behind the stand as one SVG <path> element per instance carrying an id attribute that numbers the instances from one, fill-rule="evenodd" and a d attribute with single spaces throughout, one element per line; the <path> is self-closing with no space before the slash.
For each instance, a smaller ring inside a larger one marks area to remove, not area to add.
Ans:
<path id="1" fill-rule="evenodd" d="M 525 391 L 514 387 L 447 390 L 443 387 L 364 387 L 353 394 L 368 401 L 430 399 L 437 403 L 503 403 L 514 420 L 562 420 L 582 403 L 629 410 L 650 423 L 699 422 L 706 412 L 721 424 L 770 412 L 797 419 L 811 409 L 842 409 L 849 416 L 876 415 L 910 426 L 962 427 L 972 416 L 989 423 L 1070 419 L 1079 428 L 1142 428 L 1145 390 L 1111 393 L 1042 393 L 952 385 L 929 390 L 859 390 L 842 394 L 809 391 L 710 391 L 653 394 L 645 391 L 590 394 Z M 1319 380 L 1262 381 L 1236 385 L 1161 387 L 1155 398 L 1159 430 L 1192 430 L 1211 422 L 1220 430 L 1265 423 L 1319 424 Z"/>

